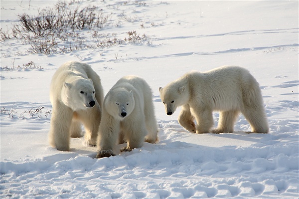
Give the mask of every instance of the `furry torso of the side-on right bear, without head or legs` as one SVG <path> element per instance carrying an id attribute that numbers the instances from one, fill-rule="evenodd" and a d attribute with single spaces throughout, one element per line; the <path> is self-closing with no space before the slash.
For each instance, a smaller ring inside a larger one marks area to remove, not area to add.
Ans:
<path id="1" fill-rule="evenodd" d="M 212 102 L 212 109 L 242 109 L 244 100 L 260 96 L 256 79 L 239 66 L 223 66 L 204 73 L 189 73 L 189 76 L 190 87 L 200 99 Z"/>

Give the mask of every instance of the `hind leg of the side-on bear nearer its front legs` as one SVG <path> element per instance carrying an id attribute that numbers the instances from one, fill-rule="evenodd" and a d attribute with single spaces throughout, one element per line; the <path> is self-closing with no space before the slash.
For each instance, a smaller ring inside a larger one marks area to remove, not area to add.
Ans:
<path id="1" fill-rule="evenodd" d="M 219 116 L 218 127 L 212 133 L 232 133 L 239 116 L 238 110 L 222 111 Z"/>

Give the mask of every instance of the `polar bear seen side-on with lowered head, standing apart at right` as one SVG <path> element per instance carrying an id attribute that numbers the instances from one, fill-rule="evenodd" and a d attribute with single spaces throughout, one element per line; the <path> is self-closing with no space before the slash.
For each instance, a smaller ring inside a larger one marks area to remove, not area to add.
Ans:
<path id="1" fill-rule="evenodd" d="M 192 71 L 159 91 L 167 115 L 182 106 L 178 122 L 190 132 L 231 133 L 240 112 L 252 132 L 269 131 L 259 83 L 244 68 L 224 66 L 203 73 Z M 211 130 L 212 111 L 220 111 L 215 130 Z"/>

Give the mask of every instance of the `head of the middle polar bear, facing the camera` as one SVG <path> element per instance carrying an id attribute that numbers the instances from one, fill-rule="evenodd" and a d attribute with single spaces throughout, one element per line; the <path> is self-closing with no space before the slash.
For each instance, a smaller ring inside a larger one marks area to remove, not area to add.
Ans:
<path id="1" fill-rule="evenodd" d="M 134 110 L 135 99 L 133 91 L 123 88 L 110 90 L 104 101 L 107 112 L 117 120 L 124 120 Z"/>

